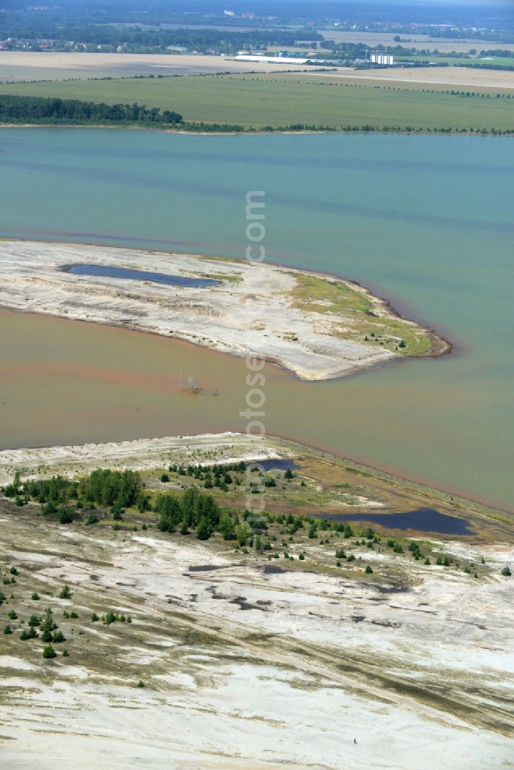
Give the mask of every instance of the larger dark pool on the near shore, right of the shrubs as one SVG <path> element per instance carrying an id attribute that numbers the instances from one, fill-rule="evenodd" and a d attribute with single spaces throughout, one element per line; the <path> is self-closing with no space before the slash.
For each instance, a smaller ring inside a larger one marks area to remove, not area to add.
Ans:
<path id="1" fill-rule="evenodd" d="M 328 514 L 312 514 L 322 519 L 332 521 L 365 521 L 380 524 L 388 529 L 412 529 L 418 532 L 437 532 L 438 534 L 472 534 L 469 521 L 455 516 L 442 514 L 434 508 L 417 508 L 403 514 L 344 514 L 332 516 Z"/>

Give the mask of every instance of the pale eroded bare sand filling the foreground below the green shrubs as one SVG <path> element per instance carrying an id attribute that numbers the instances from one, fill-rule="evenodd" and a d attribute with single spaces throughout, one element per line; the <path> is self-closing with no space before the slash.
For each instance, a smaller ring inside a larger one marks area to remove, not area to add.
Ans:
<path id="1" fill-rule="evenodd" d="M 366 583 L 298 562 L 269 574 L 229 547 L 156 531 L 35 524 L 25 509 L 4 511 L 6 526 L 0 564 L 19 571 L 11 605 L 29 613 L 22 597 L 37 589 L 72 653 L 45 661 L 39 640 L 0 641 L 5 766 L 514 766 L 505 547 L 441 544 L 485 554 L 478 585 L 408 561 L 405 590 L 384 593 L 376 586 L 398 580 L 392 558 L 375 560 Z M 323 547 L 307 547 L 323 561 Z M 56 598 L 64 582 L 72 600 Z M 62 621 L 66 608 L 79 619 Z M 132 623 L 89 621 L 109 608 Z"/>

